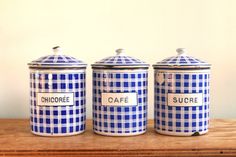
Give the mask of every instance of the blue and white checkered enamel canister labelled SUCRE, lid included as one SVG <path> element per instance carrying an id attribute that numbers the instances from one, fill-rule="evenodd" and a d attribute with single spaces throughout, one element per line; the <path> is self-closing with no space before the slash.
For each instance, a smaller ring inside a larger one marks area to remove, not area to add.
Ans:
<path id="1" fill-rule="evenodd" d="M 195 136 L 208 132 L 209 63 L 178 55 L 153 65 L 155 85 L 154 127 L 160 134 Z"/>

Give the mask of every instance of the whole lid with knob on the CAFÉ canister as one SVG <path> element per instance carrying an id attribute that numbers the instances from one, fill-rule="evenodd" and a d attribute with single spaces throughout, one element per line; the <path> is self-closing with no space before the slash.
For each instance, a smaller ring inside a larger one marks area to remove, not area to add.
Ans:
<path id="1" fill-rule="evenodd" d="M 137 58 L 125 55 L 124 49 L 117 49 L 115 56 L 106 57 L 92 64 L 93 68 L 148 68 L 149 64 Z"/>

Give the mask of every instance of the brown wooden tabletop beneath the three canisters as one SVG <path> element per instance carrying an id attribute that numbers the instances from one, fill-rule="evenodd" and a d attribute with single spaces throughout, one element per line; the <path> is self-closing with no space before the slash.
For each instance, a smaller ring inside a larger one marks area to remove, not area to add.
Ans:
<path id="1" fill-rule="evenodd" d="M 30 133 L 28 120 L 0 119 L 0 156 L 236 156 L 236 120 L 211 120 L 203 136 L 148 132 L 133 137 L 106 137 L 87 131 L 70 137 L 40 137 Z"/>

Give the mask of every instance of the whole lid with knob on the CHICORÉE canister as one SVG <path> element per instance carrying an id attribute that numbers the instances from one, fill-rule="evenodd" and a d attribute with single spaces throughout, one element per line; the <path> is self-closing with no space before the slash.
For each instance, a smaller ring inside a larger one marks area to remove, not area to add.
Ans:
<path id="1" fill-rule="evenodd" d="M 30 68 L 85 68 L 87 64 L 71 56 L 62 54 L 60 46 L 52 48 L 52 55 L 43 56 L 28 63 Z"/>

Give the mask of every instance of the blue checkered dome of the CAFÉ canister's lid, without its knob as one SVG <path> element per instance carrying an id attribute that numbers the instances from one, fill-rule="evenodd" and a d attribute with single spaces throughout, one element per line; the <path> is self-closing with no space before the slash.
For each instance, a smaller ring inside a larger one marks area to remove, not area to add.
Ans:
<path id="1" fill-rule="evenodd" d="M 95 65 L 148 65 L 148 64 L 137 58 L 133 58 L 130 56 L 116 55 L 104 58 L 101 61 L 96 62 Z"/>

